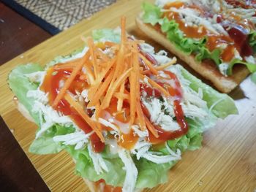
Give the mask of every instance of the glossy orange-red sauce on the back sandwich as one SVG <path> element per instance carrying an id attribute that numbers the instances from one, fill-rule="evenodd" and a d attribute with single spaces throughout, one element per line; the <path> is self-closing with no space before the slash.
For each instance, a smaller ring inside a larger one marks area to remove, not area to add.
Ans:
<path id="1" fill-rule="evenodd" d="M 206 18 L 212 17 L 212 15 L 208 15 L 207 12 L 205 12 L 200 7 L 197 7 L 195 5 L 187 6 L 183 2 L 169 3 L 166 4 L 164 8 L 170 9 L 170 7 L 176 7 L 177 9 L 190 7 L 192 9 L 197 9 L 197 11 L 199 11 L 200 14 Z M 200 39 L 207 36 L 208 40 L 206 42 L 206 47 L 210 51 L 218 48 L 219 45 L 221 45 L 222 43 L 227 44 L 227 46 L 222 50 L 222 53 L 220 55 L 220 58 L 222 58 L 222 60 L 225 62 L 231 61 L 233 59 L 235 55 L 235 48 L 236 50 L 238 50 L 238 53 L 240 53 L 242 57 L 252 55 L 253 53 L 252 47 L 250 47 L 249 45 L 248 34 L 246 34 L 242 29 L 248 28 L 248 26 L 250 28 L 253 28 L 254 26 L 248 20 L 241 19 L 235 14 L 231 14 L 231 18 L 229 19 L 236 20 L 239 25 L 234 25 L 233 23 L 231 23 L 231 25 L 227 27 L 224 26 L 227 33 L 229 34 L 229 37 L 223 34 L 216 35 L 213 32 L 208 31 L 207 28 L 205 28 L 204 26 L 188 26 L 186 23 L 184 23 L 184 21 L 181 19 L 177 12 L 165 12 L 163 14 L 163 17 L 167 17 L 169 20 L 175 20 L 186 37 Z M 222 20 L 222 15 L 218 15 L 217 23 L 222 23 Z"/>

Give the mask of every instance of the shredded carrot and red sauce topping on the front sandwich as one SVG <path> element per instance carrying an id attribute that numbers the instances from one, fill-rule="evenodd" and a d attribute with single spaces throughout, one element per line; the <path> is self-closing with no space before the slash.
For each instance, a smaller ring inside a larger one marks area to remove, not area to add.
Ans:
<path id="1" fill-rule="evenodd" d="M 143 52 L 137 40 L 127 38 L 124 18 L 121 26 L 121 45 L 110 42 L 94 45 L 92 39 L 88 39 L 89 50 L 82 58 L 51 66 L 41 85 L 54 109 L 68 115 L 86 134 L 94 131 L 90 140 L 98 153 L 104 150 L 105 137 L 113 137 L 103 136 L 108 131 L 118 131 L 118 145 L 130 150 L 139 138 L 131 126 L 138 125 L 140 131 L 148 129 L 150 142 L 157 138 L 159 142 L 175 139 L 188 130 L 176 75 L 168 71 L 164 71 L 165 77 L 159 75 L 159 70 L 174 64 L 176 58 L 158 66 L 154 57 Z M 111 55 L 104 54 L 107 49 Z M 175 98 L 178 130 L 163 131 L 152 124 L 140 101 L 145 91 L 148 96 Z M 86 100 L 81 94 L 86 95 Z"/>

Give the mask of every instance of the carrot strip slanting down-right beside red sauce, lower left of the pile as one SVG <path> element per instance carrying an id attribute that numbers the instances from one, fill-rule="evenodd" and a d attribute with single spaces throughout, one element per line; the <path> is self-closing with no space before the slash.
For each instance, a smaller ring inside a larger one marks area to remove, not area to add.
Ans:
<path id="1" fill-rule="evenodd" d="M 86 120 L 86 123 L 89 124 L 89 126 L 95 131 L 95 133 L 97 134 L 97 136 L 99 137 L 99 139 L 104 142 L 104 137 L 102 135 L 102 132 L 99 131 L 99 128 L 97 127 L 97 124 L 94 123 L 93 120 L 91 120 L 91 118 L 89 118 L 89 116 L 86 114 L 86 112 L 83 110 L 83 107 L 80 106 L 80 104 L 78 104 L 77 101 L 75 101 L 72 96 L 70 96 L 69 93 L 65 93 L 64 95 L 64 99 L 66 99 L 69 104 L 75 108 L 75 110 L 79 113 L 79 115 L 81 115 L 81 117 L 83 118 L 83 120 Z"/>

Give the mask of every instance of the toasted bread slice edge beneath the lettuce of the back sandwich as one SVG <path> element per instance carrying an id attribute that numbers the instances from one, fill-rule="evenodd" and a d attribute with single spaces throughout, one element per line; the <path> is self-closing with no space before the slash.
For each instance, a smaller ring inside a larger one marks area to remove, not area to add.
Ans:
<path id="1" fill-rule="evenodd" d="M 237 65 L 233 69 L 233 74 L 225 77 L 219 72 L 219 69 L 217 69 L 215 65 L 211 64 L 211 61 L 198 63 L 195 61 L 194 55 L 187 55 L 181 50 L 178 50 L 178 48 L 165 37 L 165 34 L 160 33 L 153 26 L 143 23 L 141 20 L 141 14 L 136 18 L 136 24 L 143 33 L 151 39 L 154 39 L 160 45 L 163 45 L 167 50 L 170 50 L 171 53 L 177 55 L 178 58 L 185 61 L 192 69 L 195 70 L 195 72 L 202 75 L 206 80 L 210 80 L 222 93 L 230 93 L 230 91 L 236 88 L 236 86 L 239 85 L 240 82 L 249 74 L 249 70 L 246 66 Z"/>

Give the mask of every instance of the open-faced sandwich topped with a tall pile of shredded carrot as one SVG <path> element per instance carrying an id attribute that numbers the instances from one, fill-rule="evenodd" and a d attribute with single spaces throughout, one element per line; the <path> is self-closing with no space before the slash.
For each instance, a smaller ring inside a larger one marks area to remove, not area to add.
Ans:
<path id="1" fill-rule="evenodd" d="M 236 106 L 173 65 L 164 50 L 127 36 L 124 18 L 121 32 L 97 30 L 93 37 L 45 68 L 26 64 L 10 73 L 19 108 L 39 127 L 29 150 L 66 150 L 91 191 L 154 188 Z"/>

